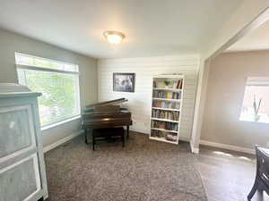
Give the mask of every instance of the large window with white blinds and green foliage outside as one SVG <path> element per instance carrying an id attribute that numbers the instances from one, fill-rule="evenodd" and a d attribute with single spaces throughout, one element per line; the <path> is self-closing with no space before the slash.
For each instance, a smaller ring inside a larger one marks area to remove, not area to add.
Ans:
<path id="1" fill-rule="evenodd" d="M 44 129 L 79 117 L 78 65 L 15 53 L 18 80 L 32 91 L 41 92 L 39 116 Z"/>

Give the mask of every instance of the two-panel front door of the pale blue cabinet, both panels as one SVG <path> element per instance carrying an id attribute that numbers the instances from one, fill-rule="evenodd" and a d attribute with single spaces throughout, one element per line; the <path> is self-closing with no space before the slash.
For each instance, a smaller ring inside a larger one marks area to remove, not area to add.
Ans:
<path id="1" fill-rule="evenodd" d="M 30 201 L 40 193 L 31 105 L 0 107 L 0 201 Z"/>

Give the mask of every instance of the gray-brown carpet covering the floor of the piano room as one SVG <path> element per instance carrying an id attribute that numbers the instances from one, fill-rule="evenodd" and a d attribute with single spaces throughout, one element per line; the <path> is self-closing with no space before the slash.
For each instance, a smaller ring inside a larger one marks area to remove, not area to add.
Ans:
<path id="1" fill-rule="evenodd" d="M 174 146 L 131 133 L 126 147 L 82 137 L 45 155 L 49 201 L 206 201 L 187 143 Z"/>

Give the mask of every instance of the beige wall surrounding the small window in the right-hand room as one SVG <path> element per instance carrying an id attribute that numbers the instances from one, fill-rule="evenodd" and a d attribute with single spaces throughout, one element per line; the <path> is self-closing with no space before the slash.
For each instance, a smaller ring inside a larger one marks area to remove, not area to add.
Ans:
<path id="1" fill-rule="evenodd" d="M 269 76 L 269 51 L 220 54 L 209 72 L 202 140 L 237 147 L 265 146 L 269 124 L 239 121 L 247 76 Z"/>

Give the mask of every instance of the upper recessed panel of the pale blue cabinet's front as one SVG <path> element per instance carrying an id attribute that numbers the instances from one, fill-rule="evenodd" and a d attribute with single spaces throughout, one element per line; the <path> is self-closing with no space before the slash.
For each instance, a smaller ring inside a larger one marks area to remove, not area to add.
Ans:
<path id="1" fill-rule="evenodd" d="M 0 108 L 0 163 L 36 147 L 30 105 Z"/>

